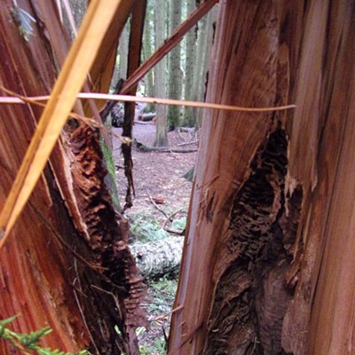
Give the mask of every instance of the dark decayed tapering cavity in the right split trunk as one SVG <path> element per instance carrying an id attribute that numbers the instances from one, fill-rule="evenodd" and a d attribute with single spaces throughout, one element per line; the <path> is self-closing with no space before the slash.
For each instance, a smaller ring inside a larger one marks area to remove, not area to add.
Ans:
<path id="1" fill-rule="evenodd" d="M 209 316 L 205 354 L 278 355 L 293 288 L 292 260 L 302 189 L 285 198 L 287 138 L 278 127 L 256 153 L 251 174 L 233 200 L 220 277 Z M 287 200 L 287 201 L 286 201 Z M 294 285 L 293 285 L 294 286 Z"/>

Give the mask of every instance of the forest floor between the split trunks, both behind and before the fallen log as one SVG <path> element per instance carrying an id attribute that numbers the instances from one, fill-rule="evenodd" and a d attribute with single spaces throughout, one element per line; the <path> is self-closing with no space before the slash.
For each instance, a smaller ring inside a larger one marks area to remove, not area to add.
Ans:
<path id="1" fill-rule="evenodd" d="M 117 135 L 122 133 L 122 129 L 113 130 Z M 133 138 L 139 143 L 154 146 L 154 137 L 153 122 L 135 122 Z M 195 143 L 197 139 L 193 131 L 174 130 L 168 133 L 168 139 L 170 148 L 197 150 Z M 137 230 L 141 226 L 139 224 L 145 221 L 150 225 L 154 224 L 157 231 L 162 231 L 164 224 L 170 225 L 166 222 L 167 216 L 171 215 L 173 215 L 171 219 L 185 221 L 192 183 L 187 181 L 183 175 L 193 167 L 195 158 L 196 152 L 142 152 L 137 147 L 133 147 L 135 197 L 133 207 L 125 211 L 125 216 L 130 220 L 131 231 Z M 122 170 L 121 143 L 116 138 L 114 138 L 114 160 L 118 168 L 116 177 L 120 202 L 124 205 L 127 182 Z M 184 225 L 180 225 L 180 229 L 183 230 Z M 133 239 L 138 238 L 134 232 L 132 234 Z M 177 236 L 174 235 L 174 237 Z M 138 329 L 140 351 L 141 354 L 162 355 L 166 353 L 164 351 L 165 335 L 169 335 L 170 312 L 177 280 L 166 275 L 160 280 L 148 280 L 147 285 L 148 292 L 144 306 L 151 329 L 149 331 L 143 328 Z"/>

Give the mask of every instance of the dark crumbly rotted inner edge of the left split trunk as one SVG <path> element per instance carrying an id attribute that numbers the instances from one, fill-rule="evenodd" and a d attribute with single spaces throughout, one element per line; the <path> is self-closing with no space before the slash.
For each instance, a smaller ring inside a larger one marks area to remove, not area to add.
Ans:
<path id="1" fill-rule="evenodd" d="M 72 133 L 71 147 L 74 191 L 87 227 L 86 241 L 92 259 L 104 268 L 94 275 L 83 268 L 77 272 L 85 317 L 97 324 L 90 328 L 91 338 L 99 343 L 100 353 L 138 354 L 135 327 L 146 325 L 138 307 L 146 290 L 128 248 L 127 222 L 114 211 L 104 183 L 99 132 L 80 125 Z"/>

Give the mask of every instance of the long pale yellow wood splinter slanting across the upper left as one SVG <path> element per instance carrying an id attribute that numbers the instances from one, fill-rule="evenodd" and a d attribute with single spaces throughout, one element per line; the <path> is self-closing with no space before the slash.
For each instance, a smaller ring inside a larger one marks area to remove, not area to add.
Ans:
<path id="1" fill-rule="evenodd" d="M 118 7 L 117 4 L 112 3 L 115 7 Z M 38 122 L 38 127 L 28 146 L 9 198 L 4 203 L 0 214 L 0 230 L 1 233 L 4 233 L 4 239 L 0 241 L 0 247 L 28 201 L 51 150 L 59 138 L 60 130 L 67 122 L 67 115 L 75 104 L 73 95 L 75 96 L 82 87 L 87 71 L 99 49 L 99 43 L 106 32 L 107 25 L 103 19 L 108 15 L 112 15 L 112 13 L 107 12 L 106 6 L 99 6 L 94 1 L 92 2 L 87 17 L 83 21 L 83 28 L 72 50 L 68 53 L 68 58 L 53 88 L 51 98 Z M 111 18 L 108 17 L 107 20 L 109 24 Z M 94 28 L 97 32 L 94 31 Z M 98 34 L 100 35 L 97 36 Z"/>

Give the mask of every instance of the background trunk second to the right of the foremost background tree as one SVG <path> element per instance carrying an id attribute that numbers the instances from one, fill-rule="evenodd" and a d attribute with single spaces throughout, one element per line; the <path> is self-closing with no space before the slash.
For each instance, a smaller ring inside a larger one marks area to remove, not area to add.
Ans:
<path id="1" fill-rule="evenodd" d="M 195 9 L 196 4 L 193 1 L 187 2 L 187 14 L 190 14 Z M 190 29 L 186 35 L 186 47 L 185 47 L 185 90 L 184 99 L 193 100 L 193 77 L 196 75 L 194 72 L 194 63 L 196 61 L 196 39 L 198 29 L 195 27 Z M 187 127 L 193 127 L 196 122 L 196 118 L 193 114 L 193 107 L 184 107 L 183 125 Z"/>

